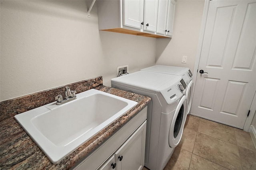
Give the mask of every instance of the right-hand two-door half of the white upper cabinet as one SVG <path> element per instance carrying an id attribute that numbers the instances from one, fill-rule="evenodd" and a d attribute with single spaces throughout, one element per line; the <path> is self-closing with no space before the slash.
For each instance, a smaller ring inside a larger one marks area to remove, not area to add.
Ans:
<path id="1" fill-rule="evenodd" d="M 174 18 L 175 1 L 159 0 L 158 3 L 158 23 L 156 33 L 168 37 L 172 36 L 172 25 Z"/>

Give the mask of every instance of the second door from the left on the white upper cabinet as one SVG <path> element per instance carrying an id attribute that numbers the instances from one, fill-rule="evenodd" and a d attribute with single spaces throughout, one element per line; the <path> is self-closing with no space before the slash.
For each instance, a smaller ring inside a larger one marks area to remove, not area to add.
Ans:
<path id="1" fill-rule="evenodd" d="M 144 30 L 156 32 L 158 0 L 144 0 Z"/>

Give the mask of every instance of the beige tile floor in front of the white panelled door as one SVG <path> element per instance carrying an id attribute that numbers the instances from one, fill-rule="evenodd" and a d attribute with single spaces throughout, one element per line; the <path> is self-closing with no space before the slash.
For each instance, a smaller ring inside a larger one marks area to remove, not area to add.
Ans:
<path id="1" fill-rule="evenodd" d="M 164 170 L 256 170 L 256 148 L 248 132 L 188 115 Z"/>

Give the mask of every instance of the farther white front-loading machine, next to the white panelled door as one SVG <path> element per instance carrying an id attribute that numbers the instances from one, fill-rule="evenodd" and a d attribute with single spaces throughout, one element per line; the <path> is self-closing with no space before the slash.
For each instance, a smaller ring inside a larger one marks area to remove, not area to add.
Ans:
<path id="1" fill-rule="evenodd" d="M 192 104 L 193 81 L 192 81 L 192 72 L 190 71 L 189 68 L 174 67 L 174 66 L 167 66 L 167 65 L 154 65 L 152 67 L 147 67 L 141 70 L 182 76 L 182 79 L 184 79 L 184 81 L 188 85 L 185 91 L 186 91 L 186 97 L 187 97 L 187 103 L 188 103 L 187 114 L 190 113 L 191 104 Z"/>

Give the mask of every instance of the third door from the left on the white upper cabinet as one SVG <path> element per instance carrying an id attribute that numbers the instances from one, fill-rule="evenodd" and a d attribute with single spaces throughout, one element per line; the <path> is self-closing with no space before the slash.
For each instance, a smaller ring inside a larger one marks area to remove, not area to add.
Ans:
<path id="1" fill-rule="evenodd" d="M 168 0 L 159 0 L 158 2 L 158 15 L 157 15 L 157 28 L 156 32 L 164 34 L 166 30 L 166 19 L 168 10 Z"/>

